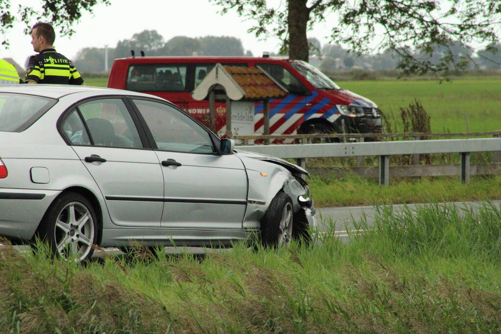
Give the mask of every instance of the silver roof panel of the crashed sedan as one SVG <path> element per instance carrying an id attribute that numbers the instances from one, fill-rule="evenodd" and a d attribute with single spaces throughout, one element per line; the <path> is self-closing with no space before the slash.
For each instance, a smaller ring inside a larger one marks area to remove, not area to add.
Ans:
<path id="1" fill-rule="evenodd" d="M 95 87 L 95 86 L 79 86 L 73 84 L 10 84 L 0 85 L 0 93 L 11 92 L 19 94 L 31 94 L 46 96 L 52 98 L 60 98 L 65 95 L 88 92 L 96 95 L 100 94 L 119 94 L 119 95 L 135 95 L 135 96 L 148 96 L 144 93 L 139 93 L 130 90 Z"/>

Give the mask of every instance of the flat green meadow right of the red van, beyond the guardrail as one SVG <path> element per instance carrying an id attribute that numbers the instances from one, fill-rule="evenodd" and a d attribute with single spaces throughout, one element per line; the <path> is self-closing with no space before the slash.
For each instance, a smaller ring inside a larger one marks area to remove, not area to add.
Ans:
<path id="1" fill-rule="evenodd" d="M 432 132 L 501 129 L 501 76 L 454 77 L 450 81 L 390 79 L 341 81 L 342 88 L 373 100 L 383 112 L 399 113 L 414 99 L 431 118 Z"/>

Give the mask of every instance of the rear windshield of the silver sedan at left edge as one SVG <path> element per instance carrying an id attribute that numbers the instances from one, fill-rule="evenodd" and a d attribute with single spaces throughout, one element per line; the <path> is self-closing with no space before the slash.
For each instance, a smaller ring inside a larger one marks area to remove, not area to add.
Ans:
<path id="1" fill-rule="evenodd" d="M 0 93 L 0 131 L 26 130 L 56 102 L 49 97 Z"/>

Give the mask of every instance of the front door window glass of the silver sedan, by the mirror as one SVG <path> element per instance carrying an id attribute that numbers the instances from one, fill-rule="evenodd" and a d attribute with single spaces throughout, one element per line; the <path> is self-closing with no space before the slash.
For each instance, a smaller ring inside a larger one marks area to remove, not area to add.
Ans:
<path id="1" fill-rule="evenodd" d="M 196 121 L 168 104 L 134 99 L 158 149 L 191 153 L 212 153 L 209 133 Z"/>

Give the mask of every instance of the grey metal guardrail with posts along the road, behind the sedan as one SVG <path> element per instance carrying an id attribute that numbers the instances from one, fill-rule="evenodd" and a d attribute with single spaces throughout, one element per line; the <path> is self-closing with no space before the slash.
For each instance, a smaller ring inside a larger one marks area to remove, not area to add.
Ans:
<path id="1" fill-rule="evenodd" d="M 402 140 L 354 143 L 241 145 L 247 150 L 281 158 L 295 158 L 306 167 L 306 158 L 379 156 L 379 184 L 389 184 L 389 157 L 398 154 L 460 153 L 461 181 L 470 179 L 470 153 L 501 151 L 501 138 Z"/>

